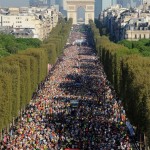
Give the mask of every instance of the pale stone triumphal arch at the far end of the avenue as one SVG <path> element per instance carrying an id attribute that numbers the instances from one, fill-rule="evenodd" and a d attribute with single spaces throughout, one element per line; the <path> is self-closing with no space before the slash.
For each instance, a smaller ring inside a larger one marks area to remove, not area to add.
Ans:
<path id="1" fill-rule="evenodd" d="M 89 23 L 89 20 L 94 21 L 94 6 L 95 0 L 66 0 L 67 5 L 67 18 L 73 19 L 73 24 L 77 24 L 77 9 L 79 7 L 85 10 L 85 24 Z"/>

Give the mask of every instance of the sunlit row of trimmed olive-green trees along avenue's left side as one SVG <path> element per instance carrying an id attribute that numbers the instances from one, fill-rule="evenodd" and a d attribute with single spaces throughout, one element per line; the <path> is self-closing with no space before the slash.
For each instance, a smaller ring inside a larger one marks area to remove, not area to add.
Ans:
<path id="1" fill-rule="evenodd" d="M 54 64 L 62 54 L 71 25 L 71 20 L 60 22 L 41 47 L 0 59 L 0 131 L 29 104 L 47 76 L 48 63 Z"/>

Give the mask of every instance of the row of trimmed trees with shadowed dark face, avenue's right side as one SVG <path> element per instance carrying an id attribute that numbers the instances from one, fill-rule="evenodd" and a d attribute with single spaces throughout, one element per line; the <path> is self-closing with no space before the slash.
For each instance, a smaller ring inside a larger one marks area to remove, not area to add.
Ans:
<path id="1" fill-rule="evenodd" d="M 149 140 L 150 144 L 150 59 L 139 51 L 113 43 L 100 36 L 90 21 L 95 48 L 104 70 L 122 98 L 127 116 Z"/>

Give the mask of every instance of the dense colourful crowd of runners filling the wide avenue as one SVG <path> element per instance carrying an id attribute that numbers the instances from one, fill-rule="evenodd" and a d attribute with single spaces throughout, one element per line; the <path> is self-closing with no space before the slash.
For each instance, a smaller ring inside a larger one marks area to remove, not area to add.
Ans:
<path id="1" fill-rule="evenodd" d="M 131 150 L 125 111 L 92 48 L 66 48 L 51 74 L 0 149 Z"/>

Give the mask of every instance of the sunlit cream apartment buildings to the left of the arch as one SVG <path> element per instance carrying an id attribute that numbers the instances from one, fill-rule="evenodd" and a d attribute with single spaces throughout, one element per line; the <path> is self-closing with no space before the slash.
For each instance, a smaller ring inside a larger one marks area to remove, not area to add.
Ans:
<path id="1" fill-rule="evenodd" d="M 3 12 L 3 13 L 2 13 Z M 48 37 L 52 28 L 57 25 L 58 11 L 54 8 L 9 8 L 1 11 L 0 27 L 11 27 L 14 35 L 23 31 L 32 31 L 32 38 L 44 40 Z M 20 32 L 19 32 L 20 31 Z M 26 36 L 25 36 L 26 37 Z"/>

